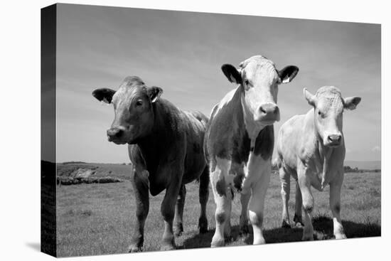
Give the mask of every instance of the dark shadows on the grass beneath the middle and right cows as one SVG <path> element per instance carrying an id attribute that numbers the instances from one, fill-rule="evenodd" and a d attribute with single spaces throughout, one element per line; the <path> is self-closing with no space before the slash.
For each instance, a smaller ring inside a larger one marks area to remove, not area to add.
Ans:
<path id="1" fill-rule="evenodd" d="M 342 220 L 343 228 L 348 238 L 366 238 L 377 237 L 381 235 L 380 225 L 374 223 L 355 223 L 348 220 Z M 333 236 L 333 220 L 327 216 L 320 215 L 313 219 L 314 239 L 327 240 L 334 238 Z M 240 235 L 239 225 L 231 228 L 232 238 L 227 240 L 226 245 L 251 245 L 252 244 L 252 228 L 249 225 L 250 234 Z M 210 247 L 214 230 L 208 230 L 205 234 L 197 234 L 192 238 L 187 238 L 183 242 L 181 249 Z M 264 238 L 266 243 L 286 243 L 301 241 L 303 228 L 272 228 L 264 230 Z M 240 242 L 237 242 L 240 241 Z"/>

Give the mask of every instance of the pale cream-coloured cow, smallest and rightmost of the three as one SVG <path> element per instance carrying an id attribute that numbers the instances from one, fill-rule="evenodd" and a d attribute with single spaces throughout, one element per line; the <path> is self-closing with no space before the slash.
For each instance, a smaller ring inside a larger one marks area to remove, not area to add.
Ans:
<path id="1" fill-rule="evenodd" d="M 341 224 L 341 186 L 345 142 L 342 132 L 344 110 L 354 110 L 360 97 L 343 99 L 336 87 L 321 87 L 316 95 L 304 88 L 304 97 L 313 108 L 306 114 L 296 115 L 285 122 L 277 138 L 277 159 L 282 182 L 282 226 L 291 227 L 288 201 L 290 176 L 296 179 L 296 209 L 294 223 L 302 223 L 304 208 L 303 240 L 314 240 L 311 213 L 314 198 L 311 186 L 322 191 L 330 185 L 330 208 L 333 213 L 336 239 L 346 238 Z"/>

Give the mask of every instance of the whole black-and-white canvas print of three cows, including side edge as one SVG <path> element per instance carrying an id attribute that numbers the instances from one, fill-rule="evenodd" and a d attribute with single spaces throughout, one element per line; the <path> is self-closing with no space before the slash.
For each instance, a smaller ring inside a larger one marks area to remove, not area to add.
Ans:
<path id="1" fill-rule="evenodd" d="M 41 250 L 382 236 L 381 29 L 41 9 Z"/>

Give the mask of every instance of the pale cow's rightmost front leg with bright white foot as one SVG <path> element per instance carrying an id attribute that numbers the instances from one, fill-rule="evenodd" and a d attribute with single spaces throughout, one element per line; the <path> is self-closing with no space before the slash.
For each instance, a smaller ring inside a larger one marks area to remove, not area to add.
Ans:
<path id="1" fill-rule="evenodd" d="M 343 172 L 338 174 L 338 179 L 330 183 L 330 208 L 333 213 L 334 235 L 336 239 L 346 238 L 345 231 L 341 223 L 341 186 L 343 182 Z"/>

